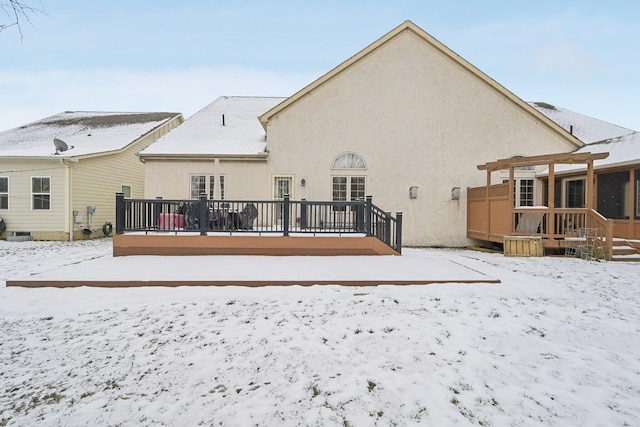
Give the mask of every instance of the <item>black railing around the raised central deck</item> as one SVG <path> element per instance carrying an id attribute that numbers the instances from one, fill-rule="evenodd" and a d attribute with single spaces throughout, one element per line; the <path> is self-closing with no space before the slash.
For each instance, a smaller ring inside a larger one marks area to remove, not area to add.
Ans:
<path id="1" fill-rule="evenodd" d="M 402 212 L 363 201 L 125 199 L 116 193 L 116 234 L 125 232 L 363 234 L 402 251 Z"/>

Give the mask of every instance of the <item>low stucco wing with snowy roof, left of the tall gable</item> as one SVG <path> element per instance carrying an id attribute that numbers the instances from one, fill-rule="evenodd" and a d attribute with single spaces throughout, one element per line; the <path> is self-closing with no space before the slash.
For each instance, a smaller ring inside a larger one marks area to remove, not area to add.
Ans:
<path id="1" fill-rule="evenodd" d="M 269 199 L 267 141 L 258 116 L 284 100 L 221 96 L 198 111 L 141 151 L 145 196 Z"/>

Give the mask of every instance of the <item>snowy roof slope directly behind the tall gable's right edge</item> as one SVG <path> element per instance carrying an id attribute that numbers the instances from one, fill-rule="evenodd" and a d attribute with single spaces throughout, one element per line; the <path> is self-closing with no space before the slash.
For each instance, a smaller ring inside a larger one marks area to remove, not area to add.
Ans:
<path id="1" fill-rule="evenodd" d="M 632 129 L 594 119 L 546 102 L 530 102 L 529 104 L 586 144 L 633 132 Z"/>

